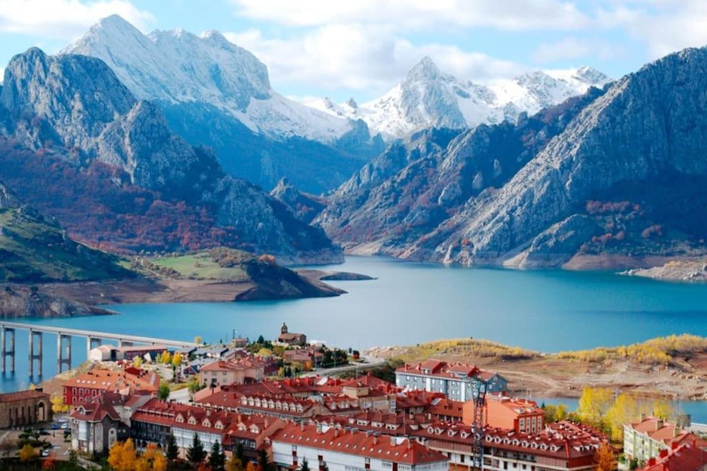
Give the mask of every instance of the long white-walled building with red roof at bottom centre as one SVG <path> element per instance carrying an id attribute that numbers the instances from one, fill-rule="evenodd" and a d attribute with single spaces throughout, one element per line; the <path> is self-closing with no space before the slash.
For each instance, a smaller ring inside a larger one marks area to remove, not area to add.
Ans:
<path id="1" fill-rule="evenodd" d="M 312 470 L 326 464 L 331 471 L 441 471 L 445 455 L 417 441 L 372 432 L 316 424 L 288 424 L 271 437 L 274 463 L 296 469 L 307 460 Z"/>

